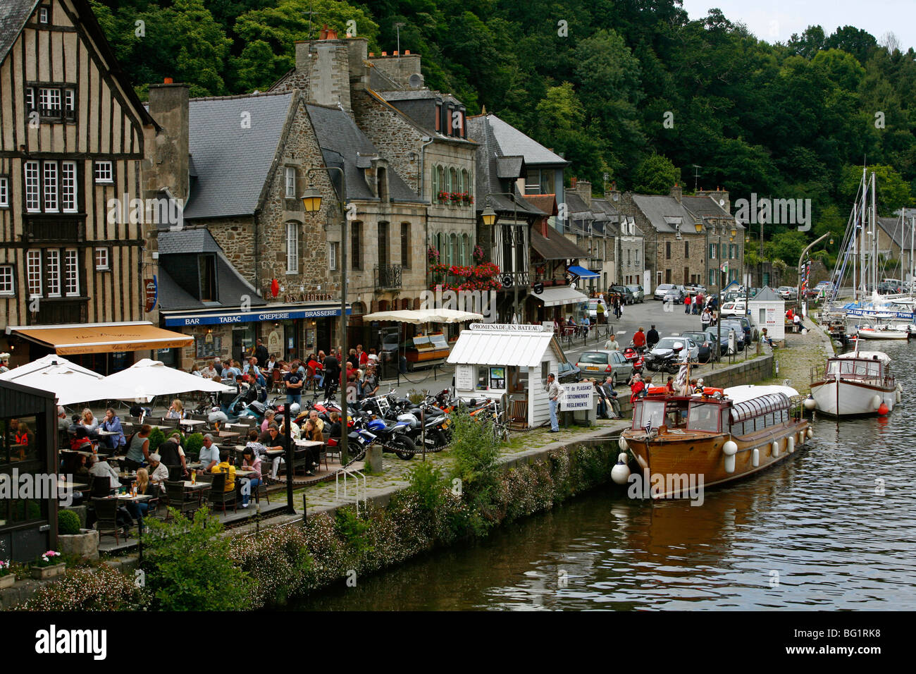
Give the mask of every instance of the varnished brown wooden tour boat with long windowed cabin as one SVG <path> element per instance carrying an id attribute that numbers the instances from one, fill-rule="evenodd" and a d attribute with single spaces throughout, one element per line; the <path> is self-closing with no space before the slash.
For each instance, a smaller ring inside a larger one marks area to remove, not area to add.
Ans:
<path id="1" fill-rule="evenodd" d="M 737 480 L 801 447 L 813 433 L 800 402 L 789 386 L 706 388 L 690 396 L 650 392 L 637 401 L 620 446 L 636 459 L 640 478 L 650 481 L 643 495 L 686 497 L 688 483 L 710 487 Z M 618 483 L 637 480 L 627 474 L 621 482 L 621 472 Z"/>

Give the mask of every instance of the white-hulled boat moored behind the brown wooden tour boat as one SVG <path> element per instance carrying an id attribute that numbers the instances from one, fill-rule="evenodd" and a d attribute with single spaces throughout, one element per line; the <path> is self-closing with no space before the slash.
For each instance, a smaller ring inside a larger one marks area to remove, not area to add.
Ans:
<path id="1" fill-rule="evenodd" d="M 812 369 L 808 409 L 832 416 L 889 414 L 900 403 L 900 386 L 881 351 L 842 353 Z"/>

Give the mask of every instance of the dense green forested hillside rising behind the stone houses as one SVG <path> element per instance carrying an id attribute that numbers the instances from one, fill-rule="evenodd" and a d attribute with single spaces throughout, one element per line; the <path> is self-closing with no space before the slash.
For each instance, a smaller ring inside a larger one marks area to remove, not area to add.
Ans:
<path id="1" fill-rule="evenodd" d="M 854 27 L 769 44 L 718 10 L 688 21 L 677 0 L 93 4 L 141 95 L 166 76 L 192 95 L 263 91 L 322 24 L 343 35 L 353 20 L 370 50 L 391 52 L 403 23 L 400 48 L 422 55 L 428 86 L 562 153 L 599 193 L 612 181 L 659 191 L 666 174 L 692 190 L 698 172 L 733 200 L 811 198 L 808 235 L 766 235 L 787 261 L 813 234 L 842 231 L 863 161 L 878 170 L 883 214 L 911 204 L 916 53 Z"/>

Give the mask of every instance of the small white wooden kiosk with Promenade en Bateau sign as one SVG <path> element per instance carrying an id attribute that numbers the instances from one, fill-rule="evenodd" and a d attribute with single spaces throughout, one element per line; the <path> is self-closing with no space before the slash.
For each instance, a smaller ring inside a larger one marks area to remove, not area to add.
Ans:
<path id="1" fill-rule="evenodd" d="M 455 366 L 455 394 L 464 401 L 508 397 L 509 421 L 539 426 L 551 418 L 544 385 L 568 361 L 553 326 L 473 323 L 462 330 L 449 363 Z"/>

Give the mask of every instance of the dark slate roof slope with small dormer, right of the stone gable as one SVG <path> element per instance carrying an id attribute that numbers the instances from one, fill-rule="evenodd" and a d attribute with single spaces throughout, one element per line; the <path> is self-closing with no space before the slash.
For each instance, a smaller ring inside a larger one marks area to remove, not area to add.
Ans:
<path id="1" fill-rule="evenodd" d="M 369 138 L 356 126 L 354 120 L 344 110 L 325 105 L 306 105 L 315 127 L 318 144 L 322 148 L 324 163 L 327 166 L 340 166 L 346 175 L 347 199 L 361 201 L 378 201 L 365 182 L 363 171 L 357 163 L 363 157 L 376 157 L 378 150 Z M 334 189 L 339 190 L 340 174 L 330 171 Z M 393 202 L 417 202 L 420 197 L 408 187 L 390 165 L 387 170 L 388 195 Z"/>

